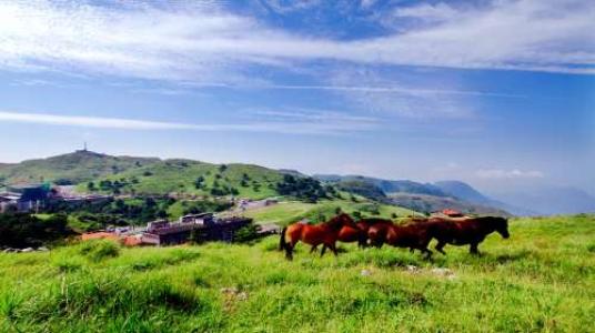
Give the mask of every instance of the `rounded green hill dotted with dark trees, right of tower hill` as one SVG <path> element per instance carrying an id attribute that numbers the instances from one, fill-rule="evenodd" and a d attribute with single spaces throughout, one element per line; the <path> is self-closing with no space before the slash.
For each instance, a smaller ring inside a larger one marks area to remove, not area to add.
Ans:
<path id="1" fill-rule="evenodd" d="M 192 160 L 165 160 L 80 184 L 80 192 L 182 196 L 290 196 L 315 202 L 333 198 L 332 186 L 309 176 L 294 176 L 252 164 L 211 164 Z"/>

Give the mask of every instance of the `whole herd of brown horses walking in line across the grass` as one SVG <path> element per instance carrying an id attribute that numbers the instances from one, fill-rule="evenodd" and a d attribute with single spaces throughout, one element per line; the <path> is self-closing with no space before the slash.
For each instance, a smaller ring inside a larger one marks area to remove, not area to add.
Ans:
<path id="1" fill-rule="evenodd" d="M 497 216 L 411 218 L 405 223 L 395 224 L 383 219 L 362 219 L 355 222 L 350 215 L 341 213 L 324 223 L 311 225 L 298 222 L 283 228 L 279 249 L 285 251 L 288 260 L 292 260 L 293 249 L 300 241 L 312 246 L 311 253 L 322 244 L 321 256 L 326 249 L 337 255 L 337 241 L 357 242 L 361 248 L 390 244 L 409 248 L 411 252 L 418 250 L 430 259 L 433 252 L 427 245 L 433 239 L 437 241 L 436 251 L 442 254 L 446 254 L 446 244 L 470 245 L 470 252 L 478 254 L 477 245 L 493 232 L 507 239 L 508 221 Z"/>

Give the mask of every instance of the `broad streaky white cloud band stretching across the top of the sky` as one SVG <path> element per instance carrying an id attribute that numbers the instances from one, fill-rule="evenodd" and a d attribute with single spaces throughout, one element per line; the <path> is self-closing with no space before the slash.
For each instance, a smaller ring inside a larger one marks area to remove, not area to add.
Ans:
<path id="1" fill-rule="evenodd" d="M 441 20 L 360 40 L 273 29 L 216 3 L 173 9 L 114 3 L 0 2 L 0 68 L 193 82 L 242 81 L 246 64 L 312 60 L 595 73 L 593 1 L 402 9 L 402 16 Z"/>

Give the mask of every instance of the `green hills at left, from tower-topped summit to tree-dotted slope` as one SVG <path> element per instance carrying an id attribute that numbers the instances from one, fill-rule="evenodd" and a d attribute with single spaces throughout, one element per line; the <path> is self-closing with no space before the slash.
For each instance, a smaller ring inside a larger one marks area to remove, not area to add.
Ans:
<path id="1" fill-rule="evenodd" d="M 87 150 L 0 165 L 0 184 L 32 182 L 77 184 L 78 192 L 110 194 L 177 193 L 250 199 L 286 195 L 315 201 L 334 193 L 334 189 L 324 189 L 296 171 L 184 159 L 112 157 Z"/>

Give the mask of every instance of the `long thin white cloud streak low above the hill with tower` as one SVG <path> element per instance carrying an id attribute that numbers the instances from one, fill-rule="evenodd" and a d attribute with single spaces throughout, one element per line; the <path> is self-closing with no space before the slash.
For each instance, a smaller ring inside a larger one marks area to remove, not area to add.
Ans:
<path id="1" fill-rule="evenodd" d="M 359 119 L 325 118 L 300 119 L 299 121 L 266 120 L 245 123 L 185 123 L 152 120 L 138 120 L 107 117 L 59 115 L 48 113 L 22 113 L 0 111 L 0 122 L 31 123 L 44 125 L 67 125 L 80 128 L 140 130 L 140 131 L 235 131 L 235 132 L 268 132 L 284 134 L 322 134 L 340 135 L 370 130 L 373 125 L 361 123 Z"/>

